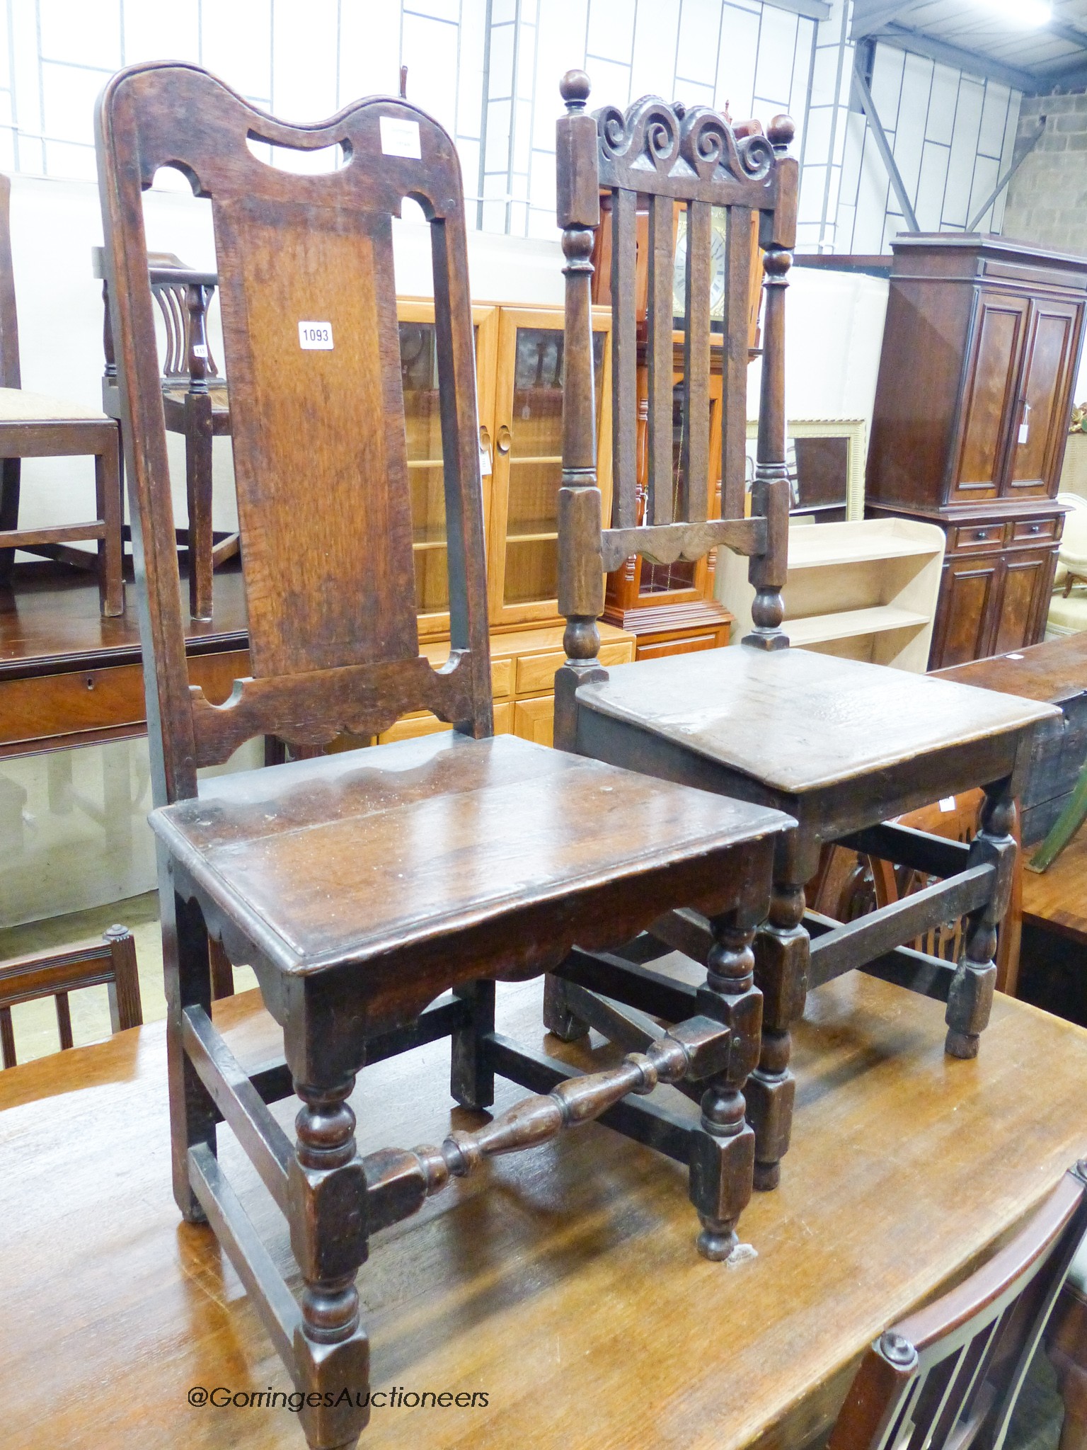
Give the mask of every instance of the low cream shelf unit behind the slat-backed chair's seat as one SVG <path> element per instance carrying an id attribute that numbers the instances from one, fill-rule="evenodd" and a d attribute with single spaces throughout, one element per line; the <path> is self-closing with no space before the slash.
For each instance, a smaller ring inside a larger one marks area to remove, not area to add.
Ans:
<path id="1" fill-rule="evenodd" d="M 788 531 L 783 628 L 820 654 L 928 667 L 944 568 L 944 529 L 912 519 L 799 522 Z M 748 561 L 719 551 L 717 597 L 736 616 L 732 642 L 751 629 Z"/>

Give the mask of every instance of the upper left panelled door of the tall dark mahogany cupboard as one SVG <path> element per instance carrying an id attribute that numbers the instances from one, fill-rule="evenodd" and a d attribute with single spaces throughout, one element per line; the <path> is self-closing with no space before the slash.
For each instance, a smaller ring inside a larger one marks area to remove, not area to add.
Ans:
<path id="1" fill-rule="evenodd" d="M 1012 428 L 1030 303 L 981 291 L 964 383 L 959 451 L 948 502 L 994 499 Z M 975 658 L 967 655 L 967 658 Z"/>

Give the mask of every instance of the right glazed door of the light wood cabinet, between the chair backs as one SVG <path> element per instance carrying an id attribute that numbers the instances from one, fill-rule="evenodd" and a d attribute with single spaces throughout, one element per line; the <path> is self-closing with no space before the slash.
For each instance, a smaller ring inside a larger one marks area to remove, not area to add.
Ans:
<path id="1" fill-rule="evenodd" d="M 500 309 L 487 557 L 493 628 L 558 619 L 562 326 L 561 309 Z M 593 309 L 593 357 L 597 481 L 607 522 L 612 508 L 610 309 Z"/>

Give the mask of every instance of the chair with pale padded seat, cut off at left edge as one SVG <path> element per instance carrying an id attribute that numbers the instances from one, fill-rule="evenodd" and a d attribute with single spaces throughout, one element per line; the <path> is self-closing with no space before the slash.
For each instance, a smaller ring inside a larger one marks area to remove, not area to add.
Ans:
<path id="1" fill-rule="evenodd" d="M 123 615 L 125 510 L 117 425 L 84 403 L 30 393 L 22 386 L 10 202 L 12 181 L 0 175 L 0 589 L 10 584 L 16 550 L 25 550 L 75 568 L 97 568 L 103 615 Z M 94 458 L 96 518 L 20 529 L 22 460 L 83 455 Z M 71 548 L 81 539 L 97 544 L 97 558 Z"/>

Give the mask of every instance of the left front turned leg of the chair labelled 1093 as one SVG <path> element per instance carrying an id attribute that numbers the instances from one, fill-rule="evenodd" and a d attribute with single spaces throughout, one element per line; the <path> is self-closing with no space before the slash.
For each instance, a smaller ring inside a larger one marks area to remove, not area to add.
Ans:
<path id="1" fill-rule="evenodd" d="M 312 1450 L 354 1446 L 370 1418 L 370 1409 L 358 1405 L 370 1382 L 370 1344 L 355 1289 L 367 1257 L 367 1183 L 346 1102 L 354 1086 L 354 1074 L 326 1086 L 294 1083 L 301 1109 L 290 1170 L 290 1234 L 304 1279 L 294 1359 L 299 1389 L 322 1396 L 300 1412 Z M 345 1389 L 351 1393 L 342 1395 Z"/>

